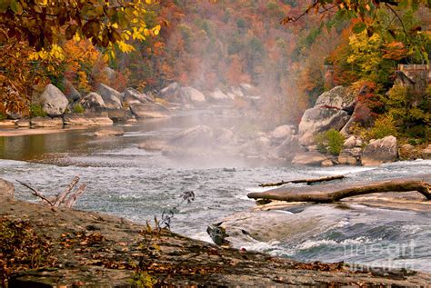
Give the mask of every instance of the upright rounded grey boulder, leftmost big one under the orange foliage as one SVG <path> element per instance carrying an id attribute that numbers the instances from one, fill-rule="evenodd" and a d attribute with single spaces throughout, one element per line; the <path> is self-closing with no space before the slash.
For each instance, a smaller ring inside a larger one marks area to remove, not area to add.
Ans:
<path id="1" fill-rule="evenodd" d="M 65 108 L 67 108 L 67 104 L 69 104 L 65 94 L 53 84 L 46 85 L 44 93 L 39 96 L 37 102 L 42 104 L 46 114 L 51 117 L 64 114 Z"/>

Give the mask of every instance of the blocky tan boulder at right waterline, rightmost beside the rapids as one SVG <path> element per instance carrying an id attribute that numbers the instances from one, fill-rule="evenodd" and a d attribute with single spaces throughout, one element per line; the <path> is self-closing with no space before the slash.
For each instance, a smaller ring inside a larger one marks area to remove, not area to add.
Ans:
<path id="1" fill-rule="evenodd" d="M 366 146 L 362 154 L 362 164 L 376 166 L 387 162 L 394 162 L 398 156 L 396 137 L 386 136 L 377 139 Z"/>

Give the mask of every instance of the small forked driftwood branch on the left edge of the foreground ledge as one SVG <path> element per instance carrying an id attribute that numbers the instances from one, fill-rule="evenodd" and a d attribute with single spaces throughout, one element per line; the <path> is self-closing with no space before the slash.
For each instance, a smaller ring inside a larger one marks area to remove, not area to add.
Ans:
<path id="1" fill-rule="evenodd" d="M 72 190 L 74 189 L 75 185 L 78 184 L 79 182 L 79 176 L 75 176 L 74 180 L 72 180 L 72 182 L 70 184 L 67 185 L 67 187 L 65 188 L 65 191 L 63 191 L 60 194 L 57 194 L 55 196 L 54 200 L 49 200 L 48 198 L 46 198 L 42 193 L 40 193 L 39 191 L 37 191 L 35 188 L 33 188 L 32 186 L 30 186 L 29 184 L 25 184 L 19 180 L 16 180 L 17 183 L 22 184 L 23 186 L 25 186 L 26 188 L 30 189 L 31 191 L 33 191 L 33 195 L 35 195 L 36 197 L 41 198 L 43 201 L 45 201 L 47 204 L 53 206 L 53 207 L 67 207 L 67 208 L 72 208 L 75 203 L 76 200 L 79 198 L 79 196 L 81 196 L 82 194 L 84 194 L 85 192 L 85 188 L 86 185 L 82 184 L 81 186 L 79 186 L 79 188 L 74 192 L 72 192 Z"/>

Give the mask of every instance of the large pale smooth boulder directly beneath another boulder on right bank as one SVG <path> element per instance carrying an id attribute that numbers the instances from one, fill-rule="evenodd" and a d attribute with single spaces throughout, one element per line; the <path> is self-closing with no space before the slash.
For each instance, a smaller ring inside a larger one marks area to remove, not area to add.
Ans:
<path id="1" fill-rule="evenodd" d="M 347 123 L 350 116 L 344 110 L 315 106 L 306 110 L 298 127 L 299 142 L 310 145 L 315 142 L 316 134 L 329 129 L 339 131 Z"/>

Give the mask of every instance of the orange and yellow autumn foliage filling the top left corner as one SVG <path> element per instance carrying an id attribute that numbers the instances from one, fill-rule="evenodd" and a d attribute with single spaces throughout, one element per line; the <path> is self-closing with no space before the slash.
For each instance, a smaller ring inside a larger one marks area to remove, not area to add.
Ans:
<path id="1" fill-rule="evenodd" d="M 62 88 L 69 78 L 82 91 L 91 89 L 95 67 L 105 55 L 135 50 L 129 41 L 158 35 L 160 25 L 146 22 L 150 0 L 0 2 L 0 107 L 4 113 L 28 114 L 40 86 Z M 83 40 L 87 39 L 87 40 Z M 103 59 L 104 62 L 107 59 Z"/>

